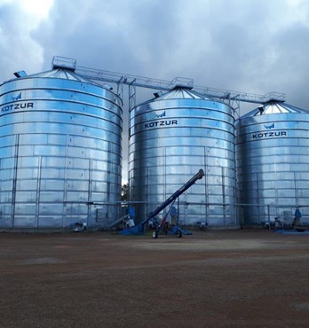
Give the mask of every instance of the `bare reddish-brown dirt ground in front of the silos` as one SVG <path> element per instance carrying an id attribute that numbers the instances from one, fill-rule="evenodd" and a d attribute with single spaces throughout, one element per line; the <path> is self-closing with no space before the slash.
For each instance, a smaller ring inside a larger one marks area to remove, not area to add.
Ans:
<path id="1" fill-rule="evenodd" d="M 309 327 L 309 235 L 0 234 L 0 327 Z"/>

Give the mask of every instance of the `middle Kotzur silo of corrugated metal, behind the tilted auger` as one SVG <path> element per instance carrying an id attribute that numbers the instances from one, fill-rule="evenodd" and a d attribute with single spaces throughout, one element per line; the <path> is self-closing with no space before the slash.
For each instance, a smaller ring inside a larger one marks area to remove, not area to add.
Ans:
<path id="1" fill-rule="evenodd" d="M 139 220 L 202 168 L 205 178 L 179 199 L 180 223 L 237 226 L 234 110 L 185 87 L 131 110 L 130 199 Z"/>

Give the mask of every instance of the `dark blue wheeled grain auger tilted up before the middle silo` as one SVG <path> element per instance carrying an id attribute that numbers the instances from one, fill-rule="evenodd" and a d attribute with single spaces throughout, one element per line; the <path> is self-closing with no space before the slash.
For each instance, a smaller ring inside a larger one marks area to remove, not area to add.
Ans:
<path id="1" fill-rule="evenodd" d="M 198 171 L 198 173 L 193 176 L 189 181 L 186 182 L 183 186 L 181 186 L 178 191 L 175 191 L 168 199 L 166 199 L 159 207 L 156 207 L 153 212 L 148 215 L 147 219 L 139 223 L 136 227 L 125 229 L 121 231 L 121 234 L 123 235 L 130 235 L 130 234 L 142 234 L 145 232 L 145 225 L 150 220 L 155 220 L 155 215 L 158 215 L 165 207 L 168 207 L 171 203 L 170 209 L 166 215 L 162 218 L 160 223 L 155 228 L 155 231 L 153 231 L 153 238 L 157 238 L 159 235 L 160 230 L 164 229 L 166 227 L 166 218 L 170 214 L 170 210 L 178 197 L 184 193 L 187 189 L 189 189 L 195 182 L 199 179 L 202 179 L 202 177 L 205 176 L 204 171 L 202 168 Z M 178 224 L 176 227 L 173 227 L 170 232 L 174 234 L 176 237 L 180 238 L 182 237 L 182 230 L 178 227 Z"/>

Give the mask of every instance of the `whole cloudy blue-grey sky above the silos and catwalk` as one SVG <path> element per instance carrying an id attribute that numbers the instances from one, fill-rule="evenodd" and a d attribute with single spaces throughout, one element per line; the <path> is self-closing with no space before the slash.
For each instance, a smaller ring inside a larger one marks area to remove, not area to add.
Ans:
<path id="1" fill-rule="evenodd" d="M 309 109 L 306 0 L 0 0 L 0 54 L 0 82 L 48 70 L 58 55 L 126 74 L 283 92 Z"/>

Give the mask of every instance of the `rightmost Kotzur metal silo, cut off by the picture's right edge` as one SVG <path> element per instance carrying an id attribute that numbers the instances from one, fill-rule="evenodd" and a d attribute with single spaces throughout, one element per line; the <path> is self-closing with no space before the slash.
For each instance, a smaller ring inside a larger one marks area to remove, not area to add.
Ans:
<path id="1" fill-rule="evenodd" d="M 242 116 L 236 131 L 242 223 L 290 223 L 296 207 L 308 221 L 309 112 L 269 102 Z"/>

